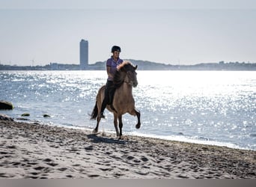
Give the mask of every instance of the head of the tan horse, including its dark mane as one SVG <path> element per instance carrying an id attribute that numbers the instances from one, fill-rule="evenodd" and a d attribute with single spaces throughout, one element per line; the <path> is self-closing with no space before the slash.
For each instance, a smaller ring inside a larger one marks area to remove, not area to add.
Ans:
<path id="1" fill-rule="evenodd" d="M 117 73 L 114 77 L 114 83 L 126 82 L 127 84 L 136 87 L 138 85 L 137 65 L 134 66 L 130 61 L 124 61 L 121 65 L 118 66 Z"/>

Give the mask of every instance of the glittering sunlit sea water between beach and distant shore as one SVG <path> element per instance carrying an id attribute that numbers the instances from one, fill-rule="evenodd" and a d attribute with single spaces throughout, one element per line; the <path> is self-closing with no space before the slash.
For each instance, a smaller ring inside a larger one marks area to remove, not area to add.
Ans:
<path id="1" fill-rule="evenodd" d="M 137 118 L 124 114 L 124 135 L 142 135 L 256 150 L 256 73 L 246 71 L 139 71 L 133 88 Z M 0 99 L 14 118 L 93 129 L 89 114 L 106 71 L 0 71 Z M 49 114 L 50 117 L 43 117 Z M 100 131 L 115 132 L 105 111 Z"/>

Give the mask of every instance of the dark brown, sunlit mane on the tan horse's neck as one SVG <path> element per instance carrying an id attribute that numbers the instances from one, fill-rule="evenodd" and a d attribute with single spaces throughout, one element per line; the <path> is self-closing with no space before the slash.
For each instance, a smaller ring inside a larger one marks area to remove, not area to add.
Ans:
<path id="1" fill-rule="evenodd" d="M 117 67 L 113 82 L 116 88 L 121 87 L 124 78 L 129 70 L 134 70 L 134 65 L 130 61 L 124 61 Z"/>

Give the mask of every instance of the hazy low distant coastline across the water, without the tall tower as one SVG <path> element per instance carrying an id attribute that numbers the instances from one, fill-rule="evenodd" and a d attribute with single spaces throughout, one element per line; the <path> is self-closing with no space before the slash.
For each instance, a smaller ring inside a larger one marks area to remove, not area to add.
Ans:
<path id="1" fill-rule="evenodd" d="M 151 61 L 128 59 L 132 64 L 138 65 L 138 70 L 231 70 L 231 71 L 255 71 L 256 63 L 225 62 L 201 63 L 195 65 L 171 65 Z M 0 70 L 81 70 L 79 64 L 50 63 L 45 66 L 16 66 L 0 64 Z M 98 61 L 89 64 L 86 70 L 106 70 L 106 61 Z"/>

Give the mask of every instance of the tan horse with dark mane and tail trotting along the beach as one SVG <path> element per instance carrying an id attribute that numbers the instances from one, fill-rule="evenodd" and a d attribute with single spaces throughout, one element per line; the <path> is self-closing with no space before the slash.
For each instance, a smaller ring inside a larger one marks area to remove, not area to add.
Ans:
<path id="1" fill-rule="evenodd" d="M 134 66 L 130 61 L 124 61 L 117 67 L 113 83 L 115 85 L 115 94 L 112 101 L 112 106 L 107 105 L 106 108 L 114 114 L 114 126 L 116 135 L 119 138 L 122 138 L 122 115 L 129 113 L 133 116 L 137 116 L 138 123 L 136 124 L 136 129 L 141 127 L 140 112 L 135 108 L 135 101 L 132 96 L 132 87 L 135 88 L 138 85 L 137 65 Z M 96 103 L 94 105 L 94 110 L 91 112 L 91 120 L 97 119 L 97 126 L 94 129 L 94 134 L 97 134 L 99 123 L 100 123 L 100 108 L 104 99 L 104 92 L 106 86 L 102 86 L 96 96 Z M 119 129 L 118 130 L 118 122 Z"/>

